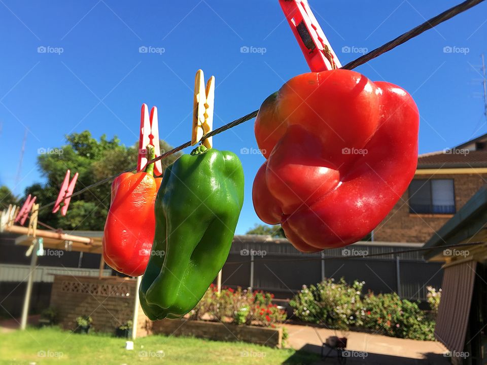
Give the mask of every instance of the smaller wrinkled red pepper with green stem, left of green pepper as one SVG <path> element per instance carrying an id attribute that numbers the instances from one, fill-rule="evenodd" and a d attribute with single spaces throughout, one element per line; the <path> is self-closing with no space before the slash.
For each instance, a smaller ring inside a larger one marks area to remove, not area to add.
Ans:
<path id="1" fill-rule="evenodd" d="M 149 150 L 149 160 L 154 149 Z M 144 274 L 154 240 L 154 202 L 162 178 L 154 178 L 154 164 L 145 171 L 125 172 L 112 182 L 112 200 L 103 229 L 103 259 L 130 276 Z M 164 254 L 164 252 L 161 252 Z"/>

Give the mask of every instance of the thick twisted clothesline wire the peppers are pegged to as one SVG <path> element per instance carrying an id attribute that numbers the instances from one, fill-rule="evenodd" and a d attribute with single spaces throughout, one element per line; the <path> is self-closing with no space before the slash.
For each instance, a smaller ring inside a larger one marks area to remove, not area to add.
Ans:
<path id="1" fill-rule="evenodd" d="M 446 11 L 444 11 L 443 13 L 441 14 L 438 14 L 437 16 L 425 21 L 423 24 L 420 24 L 418 26 L 416 26 L 415 28 L 401 34 L 400 36 L 398 36 L 397 38 L 395 38 L 394 40 L 360 56 L 359 58 L 355 59 L 354 61 L 352 62 L 349 62 L 347 64 L 345 64 L 344 66 L 342 66 L 341 68 L 343 69 L 354 69 L 378 56 L 380 56 L 381 54 L 384 54 L 386 52 L 389 52 L 390 50 L 396 48 L 397 46 L 411 40 L 412 38 L 415 38 L 416 36 L 420 35 L 421 33 L 423 33 L 424 31 L 428 30 L 428 29 L 431 29 L 433 27 L 435 27 L 436 25 L 450 19 L 450 18 L 453 18 L 454 16 L 460 14 L 460 13 L 463 13 L 464 11 L 482 3 L 483 1 L 485 0 L 467 0 L 459 5 L 456 5 Z M 220 134 L 230 128 L 233 128 L 239 124 L 242 124 L 244 122 L 247 122 L 253 118 L 255 118 L 257 116 L 257 113 L 259 112 L 259 110 L 257 109 L 256 111 L 253 111 L 249 114 L 247 114 L 246 116 L 243 116 L 241 118 L 238 118 L 236 120 L 234 120 L 233 122 L 230 122 L 228 124 L 225 124 L 224 126 L 220 127 L 220 128 L 217 128 L 209 133 L 206 133 L 205 135 L 203 135 L 201 137 L 201 141 L 205 140 L 206 138 L 209 138 L 209 137 L 213 137 L 217 134 Z M 150 160 L 148 162 L 149 163 L 153 163 L 153 162 L 156 162 L 156 161 L 159 161 L 159 160 L 162 160 L 172 154 L 175 154 L 187 147 L 190 147 L 191 146 L 191 141 L 188 141 L 186 143 L 183 143 L 181 145 L 179 145 L 178 147 L 176 148 L 173 148 L 172 150 L 169 150 L 167 152 L 165 152 L 164 154 L 162 154 L 161 156 L 153 159 L 153 160 Z M 99 185 L 102 185 L 102 184 L 105 184 L 106 182 L 109 182 L 111 180 L 113 180 L 115 177 L 117 177 L 118 175 L 120 175 L 121 173 L 123 172 L 131 172 L 131 171 L 134 171 L 136 170 L 136 167 L 132 167 L 132 168 L 129 168 L 127 170 L 124 170 L 122 172 L 119 172 L 113 176 L 109 176 L 109 177 L 106 177 L 102 180 L 99 180 L 97 182 L 94 182 L 93 184 L 91 185 L 88 185 L 87 187 L 84 187 L 83 189 L 77 191 L 76 193 L 73 193 L 72 195 L 69 195 L 69 196 L 66 196 L 65 198 L 68 198 L 68 197 L 75 197 L 75 196 L 78 196 L 80 194 L 83 194 L 84 192 L 94 188 L 94 187 L 97 187 Z M 39 211 L 42 211 L 44 209 L 47 209 L 48 207 L 50 206 L 53 206 L 54 204 L 56 203 L 56 201 L 52 201 L 50 203 L 47 203 L 45 205 L 42 205 L 41 208 L 39 209 Z"/>

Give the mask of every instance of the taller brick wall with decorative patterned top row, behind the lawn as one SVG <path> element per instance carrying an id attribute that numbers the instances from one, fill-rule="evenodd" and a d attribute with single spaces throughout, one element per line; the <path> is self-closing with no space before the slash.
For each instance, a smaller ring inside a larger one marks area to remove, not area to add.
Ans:
<path id="1" fill-rule="evenodd" d="M 76 318 L 89 315 L 97 332 L 114 333 L 133 318 L 136 280 L 121 277 L 55 275 L 50 305 L 57 309 L 59 324 L 74 330 Z M 137 337 L 152 333 L 152 322 L 139 306 Z"/>

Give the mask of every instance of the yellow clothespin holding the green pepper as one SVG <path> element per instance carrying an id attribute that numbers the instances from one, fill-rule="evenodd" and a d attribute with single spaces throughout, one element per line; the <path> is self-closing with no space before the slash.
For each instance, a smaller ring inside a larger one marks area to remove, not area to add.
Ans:
<path id="1" fill-rule="evenodd" d="M 212 76 L 204 87 L 202 70 L 196 71 L 194 79 L 193 99 L 193 128 L 191 132 L 191 145 L 195 145 L 201 137 L 213 129 L 213 109 L 215 103 L 215 77 Z M 203 140 L 206 148 L 212 148 L 213 137 Z"/>

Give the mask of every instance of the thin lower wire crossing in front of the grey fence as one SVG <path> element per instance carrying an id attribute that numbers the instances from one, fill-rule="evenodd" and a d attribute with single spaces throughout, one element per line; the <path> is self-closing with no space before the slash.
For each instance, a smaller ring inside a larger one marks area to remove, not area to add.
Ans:
<path id="1" fill-rule="evenodd" d="M 459 247 L 467 247 L 467 246 L 478 246 L 478 245 L 485 245 L 485 242 L 468 242 L 468 243 L 456 243 L 456 244 L 447 244 L 447 245 L 442 245 L 442 246 L 435 246 L 435 247 L 419 247 L 419 248 L 411 248 L 411 249 L 404 249 L 404 250 L 398 250 L 398 251 L 389 251 L 389 252 L 380 252 L 380 253 L 370 253 L 370 254 L 361 254 L 361 255 L 353 255 L 352 250 L 355 250 L 355 246 L 346 246 L 342 247 L 343 250 L 349 250 L 351 252 L 350 255 L 343 255 L 343 257 L 340 257 L 340 260 L 349 260 L 349 259 L 362 259 L 362 258 L 368 258 L 368 257 L 377 257 L 377 256 L 387 256 L 387 255 L 396 255 L 400 253 L 410 253 L 410 252 L 419 252 L 419 251 L 428 251 L 428 250 L 436 250 L 436 249 L 448 249 L 448 248 L 459 248 Z M 253 250 L 256 251 L 256 250 Z M 360 249 L 357 249 L 357 251 L 360 251 Z M 257 251 L 258 252 L 258 251 Z M 262 250 L 261 250 L 262 252 Z M 262 263 L 262 262 L 272 262 L 272 261 L 321 261 L 321 260 L 337 260 L 338 257 L 336 256 L 326 256 L 326 251 L 322 251 L 325 256 L 324 257 L 316 257 L 316 258 L 297 258 L 294 257 L 292 259 L 258 259 L 254 260 L 254 264 L 257 263 Z M 249 255 L 252 252 L 249 251 Z M 455 253 L 455 252 L 451 252 Z M 465 252 L 459 252 L 461 254 Z M 266 253 L 267 254 L 267 253 Z M 272 254 L 270 252 L 269 254 Z M 277 253 L 276 253 L 277 254 Z M 468 254 L 466 254 L 467 256 Z M 254 257 L 258 257 L 258 254 L 255 254 Z M 238 264 L 248 264 L 250 263 L 250 260 L 242 260 L 242 261 L 230 261 L 226 262 L 225 265 L 238 265 Z"/>

